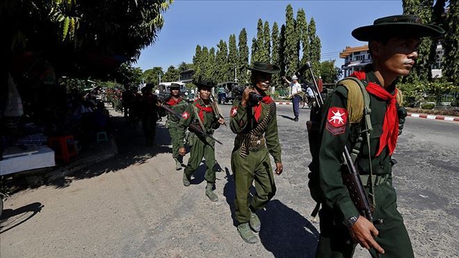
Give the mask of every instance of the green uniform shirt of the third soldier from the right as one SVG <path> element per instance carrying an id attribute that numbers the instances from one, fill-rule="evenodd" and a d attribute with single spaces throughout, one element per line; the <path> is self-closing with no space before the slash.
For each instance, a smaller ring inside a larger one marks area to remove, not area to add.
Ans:
<path id="1" fill-rule="evenodd" d="M 195 122 L 200 119 L 196 115 L 196 113 L 199 114 L 200 111 L 200 108 L 198 108 L 196 104 L 199 104 L 202 107 L 206 107 L 204 102 L 202 102 L 202 99 L 197 99 L 195 102 L 193 102 L 193 104 L 186 106 L 185 111 L 182 113 L 182 118 L 180 118 L 177 135 L 179 136 L 179 147 L 181 148 L 185 146 L 184 138 L 186 128 L 190 125 L 191 122 Z M 197 112 L 195 112 L 195 108 L 197 109 Z M 217 122 L 218 118 L 216 118 L 214 112 L 203 112 L 203 114 L 204 121 L 202 121 L 202 124 L 204 125 L 204 131 L 206 131 L 207 134 L 214 134 L 214 129 L 218 129 L 218 127 L 220 127 L 220 124 Z M 196 124 L 198 124 L 198 127 L 200 127 L 198 122 L 196 122 Z"/>

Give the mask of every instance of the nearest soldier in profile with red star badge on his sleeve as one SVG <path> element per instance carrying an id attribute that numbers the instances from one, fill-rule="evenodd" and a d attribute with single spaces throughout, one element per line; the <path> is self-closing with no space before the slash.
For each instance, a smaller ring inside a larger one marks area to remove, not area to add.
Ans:
<path id="1" fill-rule="evenodd" d="M 397 211 L 396 192 L 392 186 L 391 157 L 399 134 L 396 104 L 398 76 L 406 76 L 418 57 L 422 37 L 440 36 L 444 31 L 435 25 L 422 24 L 419 17 L 395 15 L 376 19 L 371 26 L 353 31 L 357 40 L 369 42 L 373 63 L 364 71 L 354 72 L 369 93 L 373 130 L 363 137 L 355 165 L 373 207 L 371 223 L 360 215 L 341 179 L 344 145 L 353 146 L 365 121 L 349 124 L 347 108 L 350 92 L 339 84 L 325 101 L 321 120 L 319 159 L 309 168 L 318 168 L 319 195 L 323 196 L 319 211 L 321 236 L 316 257 L 352 257 L 356 243 L 375 250 L 383 257 L 414 257 L 410 237 Z M 351 99 L 351 98 L 349 98 Z M 350 114 L 350 113 L 349 113 Z M 371 176 L 372 175 L 372 176 Z M 314 193 L 311 188 L 311 193 Z"/>

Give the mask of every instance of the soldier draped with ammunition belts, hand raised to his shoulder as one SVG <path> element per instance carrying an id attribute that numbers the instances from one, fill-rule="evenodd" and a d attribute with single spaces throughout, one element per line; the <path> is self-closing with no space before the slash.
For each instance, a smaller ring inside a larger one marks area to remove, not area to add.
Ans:
<path id="1" fill-rule="evenodd" d="M 281 149 L 277 136 L 275 102 L 266 95 L 271 76 L 280 72 L 277 65 L 255 62 L 250 78 L 252 86 L 245 88 L 242 97 L 234 101 L 230 111 L 230 127 L 234 134 L 231 169 L 236 184 L 237 230 L 247 243 L 256 243 L 260 220 L 255 213 L 263 209 L 275 195 L 273 169 L 269 155 L 275 162 L 275 173 L 282 173 Z M 250 186 L 255 180 L 256 193 L 249 202 Z M 252 229 L 252 230 L 251 230 Z"/>

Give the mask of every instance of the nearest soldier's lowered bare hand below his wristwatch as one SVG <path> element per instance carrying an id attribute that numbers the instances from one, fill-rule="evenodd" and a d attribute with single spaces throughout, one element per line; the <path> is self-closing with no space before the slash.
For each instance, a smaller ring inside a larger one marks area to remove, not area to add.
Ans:
<path id="1" fill-rule="evenodd" d="M 384 249 L 378 245 L 375 241 L 375 237 L 378 236 L 378 229 L 371 223 L 367 218 L 359 216 L 357 221 L 349 227 L 349 232 L 352 238 L 362 246 L 362 248 L 375 248 L 376 252 L 380 254 L 384 253 Z"/>

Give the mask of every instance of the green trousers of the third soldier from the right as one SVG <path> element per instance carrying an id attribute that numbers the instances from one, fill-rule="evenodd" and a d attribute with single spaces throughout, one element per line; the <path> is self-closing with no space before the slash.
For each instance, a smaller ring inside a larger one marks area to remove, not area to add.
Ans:
<path id="1" fill-rule="evenodd" d="M 191 176 L 195 172 L 202 161 L 202 157 L 206 159 L 206 174 L 204 179 L 208 183 L 215 184 L 215 141 L 212 139 L 204 139 L 201 136 L 192 134 L 190 136 L 190 159 L 185 168 L 185 174 Z"/>

